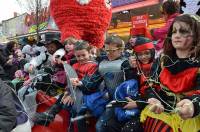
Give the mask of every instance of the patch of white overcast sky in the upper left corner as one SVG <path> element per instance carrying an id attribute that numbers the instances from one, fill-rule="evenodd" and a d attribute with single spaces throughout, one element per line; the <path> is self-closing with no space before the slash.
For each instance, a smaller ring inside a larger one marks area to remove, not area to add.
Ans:
<path id="1" fill-rule="evenodd" d="M 12 18 L 13 12 L 22 13 L 16 0 L 0 0 L 0 22 Z"/>

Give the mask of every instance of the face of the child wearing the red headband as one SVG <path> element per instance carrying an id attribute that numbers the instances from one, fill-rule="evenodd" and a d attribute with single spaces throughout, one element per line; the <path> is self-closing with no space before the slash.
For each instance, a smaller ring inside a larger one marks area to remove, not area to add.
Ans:
<path id="1" fill-rule="evenodd" d="M 136 53 L 136 55 L 142 64 L 148 64 L 151 60 L 151 50 L 144 50 Z"/>

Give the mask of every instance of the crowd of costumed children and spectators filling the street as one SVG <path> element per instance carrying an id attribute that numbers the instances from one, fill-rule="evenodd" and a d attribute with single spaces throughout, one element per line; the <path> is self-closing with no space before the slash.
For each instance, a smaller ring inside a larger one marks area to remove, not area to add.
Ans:
<path id="1" fill-rule="evenodd" d="M 102 49 L 74 37 L 8 42 L 0 49 L 0 131 L 48 127 L 63 110 L 66 131 L 89 131 L 91 118 L 96 132 L 200 131 L 200 18 L 179 14 L 175 1 L 161 11 L 166 25 L 128 44 L 117 35 Z M 56 99 L 44 112 L 41 91 Z"/>

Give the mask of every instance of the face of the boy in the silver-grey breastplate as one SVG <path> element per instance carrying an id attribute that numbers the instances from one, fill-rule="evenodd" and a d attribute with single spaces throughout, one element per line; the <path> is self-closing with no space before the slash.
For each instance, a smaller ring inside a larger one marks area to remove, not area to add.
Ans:
<path id="1" fill-rule="evenodd" d="M 105 51 L 109 60 L 115 60 L 121 56 L 122 49 L 117 47 L 116 44 L 105 44 Z"/>

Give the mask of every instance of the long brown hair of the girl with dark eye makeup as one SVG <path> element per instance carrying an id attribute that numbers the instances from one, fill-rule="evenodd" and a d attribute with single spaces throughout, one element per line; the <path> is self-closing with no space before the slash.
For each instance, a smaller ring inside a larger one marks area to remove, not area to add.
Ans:
<path id="1" fill-rule="evenodd" d="M 172 45 L 172 30 L 173 30 L 173 24 L 175 22 L 184 22 L 188 25 L 190 25 L 190 28 L 193 33 L 193 49 L 191 52 L 192 57 L 199 58 L 200 57 L 200 18 L 196 15 L 188 15 L 184 14 L 181 16 L 178 16 L 174 19 L 168 34 L 167 38 L 164 42 L 164 54 L 168 55 L 169 57 L 176 56 L 176 49 Z"/>

